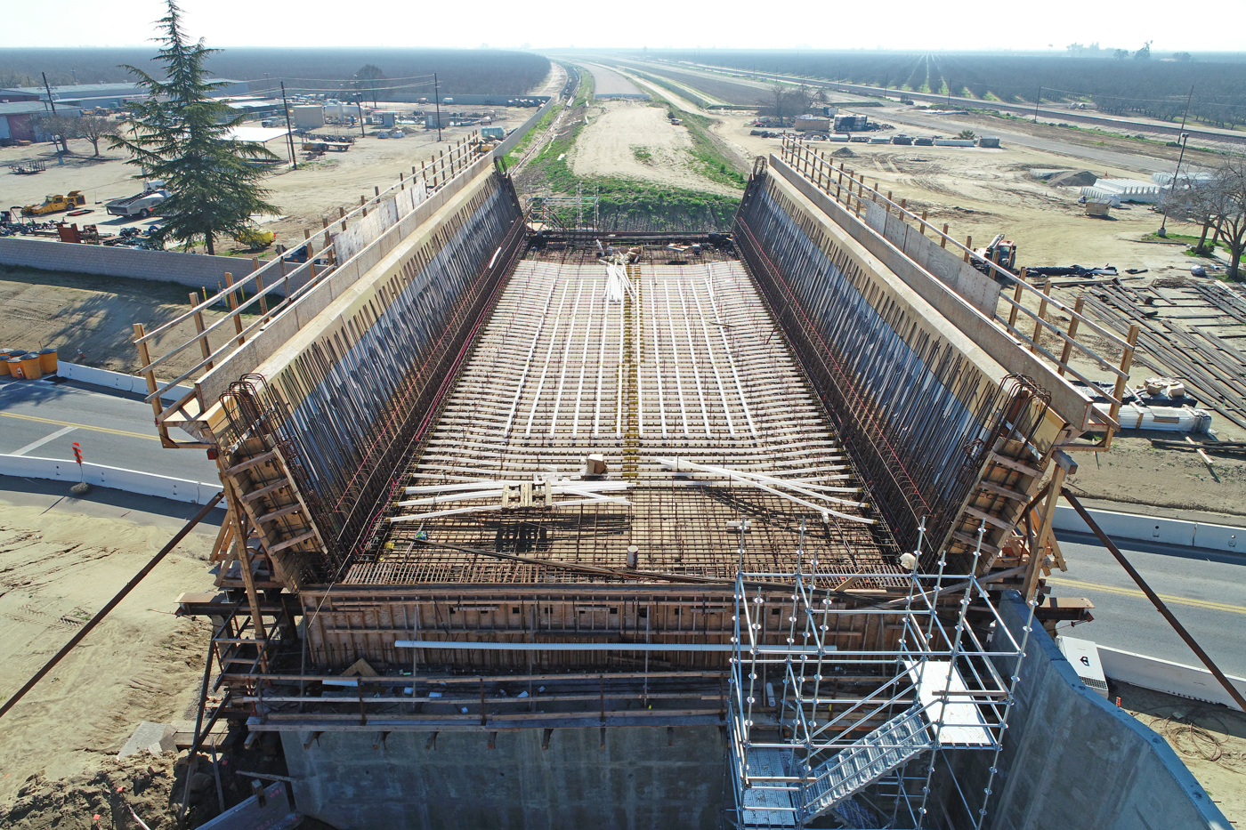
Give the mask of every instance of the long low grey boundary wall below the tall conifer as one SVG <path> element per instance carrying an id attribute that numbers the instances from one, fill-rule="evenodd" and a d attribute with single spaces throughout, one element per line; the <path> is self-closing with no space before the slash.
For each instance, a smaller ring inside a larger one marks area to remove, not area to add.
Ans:
<path id="1" fill-rule="evenodd" d="M 226 272 L 235 278 L 250 273 L 250 260 L 240 257 L 106 248 L 17 237 L 0 238 L 0 264 L 178 283 L 194 290 L 207 288 L 213 294 L 218 284 L 224 288 Z"/>

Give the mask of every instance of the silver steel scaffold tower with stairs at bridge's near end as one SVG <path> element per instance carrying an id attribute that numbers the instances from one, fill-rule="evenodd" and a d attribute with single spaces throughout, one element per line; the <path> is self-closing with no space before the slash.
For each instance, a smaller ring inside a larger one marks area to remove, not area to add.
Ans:
<path id="1" fill-rule="evenodd" d="M 741 568 L 735 581 L 728 697 L 738 826 L 801 828 L 832 814 L 845 828 L 921 830 L 944 824 L 932 815 L 942 799 L 938 816 L 951 809 L 981 828 L 1034 602 L 1018 638 L 976 567 L 948 573 L 941 557 L 937 572 L 906 577 L 905 598 L 868 606 L 842 592 L 893 575 L 845 580 L 804 550 L 796 562 L 790 573 Z M 758 617 L 778 584 L 790 588 L 786 632 L 765 636 Z M 829 644 L 862 616 L 876 619 L 858 648 Z M 993 753 L 984 786 L 957 780 L 953 756 L 967 751 Z"/>

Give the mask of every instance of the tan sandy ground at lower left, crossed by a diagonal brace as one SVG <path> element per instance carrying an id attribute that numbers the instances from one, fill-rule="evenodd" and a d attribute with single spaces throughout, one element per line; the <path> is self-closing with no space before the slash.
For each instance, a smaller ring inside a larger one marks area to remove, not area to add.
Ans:
<path id="1" fill-rule="evenodd" d="M 62 482 L 5 482 L 0 699 L 16 692 L 198 511 L 177 505 L 143 512 L 150 500 L 116 491 L 76 498 Z M 19 485 L 29 490 L 14 492 Z M 204 567 L 219 528 L 212 521 L 219 518 L 196 527 L 5 717 L 0 804 L 11 805 L 24 790 L 29 795 L 31 781 L 40 790 L 57 779 L 107 774 L 108 756 L 143 720 L 193 718 L 208 623 L 173 611 L 182 592 L 212 589 Z M 15 826 L 2 810 L 0 825 Z"/>

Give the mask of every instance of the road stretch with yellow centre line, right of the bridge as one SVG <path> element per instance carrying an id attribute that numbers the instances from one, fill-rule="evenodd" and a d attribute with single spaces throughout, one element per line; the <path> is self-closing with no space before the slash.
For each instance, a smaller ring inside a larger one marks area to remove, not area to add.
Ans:
<path id="1" fill-rule="evenodd" d="M 1068 573 L 1052 573 L 1052 594 L 1088 597 L 1094 622 L 1062 627 L 1070 637 L 1201 665 L 1125 570 L 1096 538 L 1059 533 Z M 1246 556 L 1116 541 L 1155 593 L 1226 674 L 1246 677 Z"/>

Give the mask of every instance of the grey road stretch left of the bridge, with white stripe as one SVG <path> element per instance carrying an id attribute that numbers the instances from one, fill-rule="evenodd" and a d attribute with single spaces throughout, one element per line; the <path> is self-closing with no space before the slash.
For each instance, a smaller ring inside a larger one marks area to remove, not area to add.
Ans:
<path id="1" fill-rule="evenodd" d="M 74 441 L 93 464 L 217 481 L 204 452 L 161 447 L 138 395 L 47 378 L 0 384 L 0 452 L 71 461 Z"/>

